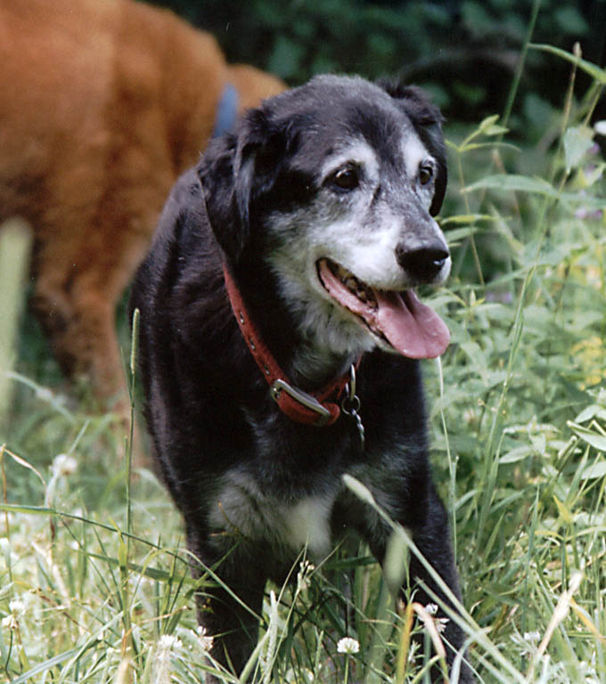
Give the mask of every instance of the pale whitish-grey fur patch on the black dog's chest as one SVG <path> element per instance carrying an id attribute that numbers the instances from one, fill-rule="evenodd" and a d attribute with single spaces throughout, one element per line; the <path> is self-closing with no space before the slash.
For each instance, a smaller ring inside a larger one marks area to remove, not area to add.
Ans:
<path id="1" fill-rule="evenodd" d="M 283 501 L 264 493 L 255 479 L 230 472 L 210 507 L 209 523 L 215 530 L 242 536 L 250 542 L 295 554 L 307 547 L 312 558 L 331 550 L 331 514 L 336 491 Z"/>

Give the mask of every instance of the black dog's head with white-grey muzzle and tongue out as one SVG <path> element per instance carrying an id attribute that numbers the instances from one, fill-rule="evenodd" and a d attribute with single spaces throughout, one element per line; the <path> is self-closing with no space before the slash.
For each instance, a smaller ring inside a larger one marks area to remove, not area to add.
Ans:
<path id="1" fill-rule="evenodd" d="M 227 260 L 269 268 L 303 334 L 337 354 L 441 354 L 415 297 L 450 271 L 439 111 L 417 88 L 316 77 L 250 110 L 199 167 Z"/>

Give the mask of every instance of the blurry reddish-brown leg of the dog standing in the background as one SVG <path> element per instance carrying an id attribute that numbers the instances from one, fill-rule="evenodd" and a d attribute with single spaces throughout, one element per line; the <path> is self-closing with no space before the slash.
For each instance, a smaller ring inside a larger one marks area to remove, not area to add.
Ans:
<path id="1" fill-rule="evenodd" d="M 116 305 L 143 258 L 149 237 L 126 240 L 126 235 L 114 232 L 107 244 L 78 237 L 71 236 L 69 245 L 47 242 L 38 250 L 34 308 L 62 370 L 90 382 L 102 408 L 126 416 Z"/>

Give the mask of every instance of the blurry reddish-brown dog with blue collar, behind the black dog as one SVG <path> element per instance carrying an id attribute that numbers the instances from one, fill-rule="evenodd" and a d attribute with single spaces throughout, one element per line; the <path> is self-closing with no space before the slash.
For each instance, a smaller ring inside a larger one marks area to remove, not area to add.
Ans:
<path id="1" fill-rule="evenodd" d="M 132 0 L 0 4 L 0 222 L 32 225 L 35 310 L 104 403 L 122 386 L 116 303 L 228 84 L 239 110 L 285 87 Z"/>

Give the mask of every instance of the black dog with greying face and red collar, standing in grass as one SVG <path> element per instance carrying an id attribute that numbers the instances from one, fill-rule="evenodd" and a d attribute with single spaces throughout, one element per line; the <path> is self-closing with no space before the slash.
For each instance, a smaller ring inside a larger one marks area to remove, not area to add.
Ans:
<path id="1" fill-rule="evenodd" d="M 283 581 L 306 545 L 323 558 L 353 528 L 384 557 L 389 526 L 345 474 L 458 594 L 416 361 L 448 332 L 412 290 L 450 269 L 431 218 L 446 190 L 440 123 L 418 89 L 361 78 L 267 100 L 176 183 L 137 274 L 162 476 L 192 553 L 251 608 L 220 589 L 199 604 L 237 672 L 267 578 Z M 443 597 L 414 558 L 409 576 Z M 452 662 L 463 635 L 451 620 L 444 636 Z"/>

